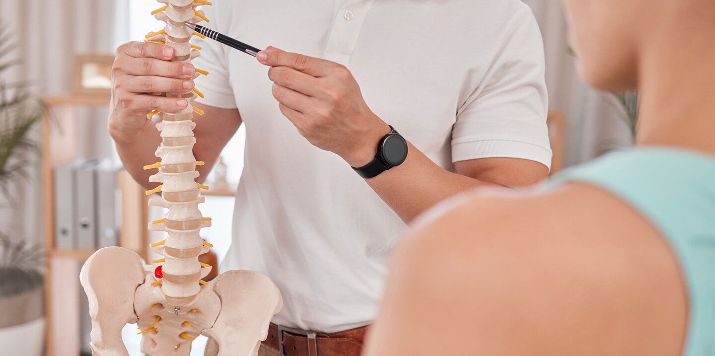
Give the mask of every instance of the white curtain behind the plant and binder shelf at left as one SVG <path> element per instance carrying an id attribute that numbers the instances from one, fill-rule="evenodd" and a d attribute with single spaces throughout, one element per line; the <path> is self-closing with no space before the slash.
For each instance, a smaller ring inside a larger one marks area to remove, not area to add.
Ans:
<path id="1" fill-rule="evenodd" d="M 0 81 L 29 80 L 38 97 L 69 94 L 75 54 L 113 54 L 116 48 L 115 19 L 121 9 L 115 0 L 0 0 L 0 9 L 0 26 L 10 29 L 19 44 L 8 57 L 21 61 Z M 81 108 L 77 114 L 79 152 L 111 154 L 106 109 Z M 32 135 L 39 142 L 39 127 Z M 40 172 L 37 157 L 30 179 L 16 184 L 20 204 L 0 210 L 0 229 L 15 238 L 42 241 Z"/>

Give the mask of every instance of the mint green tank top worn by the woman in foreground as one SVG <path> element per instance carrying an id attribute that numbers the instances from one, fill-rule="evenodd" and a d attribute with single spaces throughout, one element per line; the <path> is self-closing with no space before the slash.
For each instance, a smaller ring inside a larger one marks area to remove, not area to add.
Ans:
<path id="1" fill-rule="evenodd" d="M 659 229 L 679 259 L 689 295 L 682 355 L 715 356 L 715 156 L 626 149 L 567 169 L 547 185 L 573 181 L 621 197 Z"/>

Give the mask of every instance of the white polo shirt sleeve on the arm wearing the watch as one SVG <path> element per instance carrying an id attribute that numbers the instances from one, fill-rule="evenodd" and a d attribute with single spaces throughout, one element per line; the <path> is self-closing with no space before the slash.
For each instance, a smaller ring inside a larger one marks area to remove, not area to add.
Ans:
<path id="1" fill-rule="evenodd" d="M 548 95 L 541 32 L 524 7 L 498 36 L 481 83 L 458 109 L 453 162 L 489 157 L 529 159 L 551 167 Z"/>

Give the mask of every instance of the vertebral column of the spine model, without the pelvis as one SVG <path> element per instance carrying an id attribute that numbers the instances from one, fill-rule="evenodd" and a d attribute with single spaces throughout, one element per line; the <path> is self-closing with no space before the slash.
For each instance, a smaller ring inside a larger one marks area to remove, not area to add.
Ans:
<path id="1" fill-rule="evenodd" d="M 190 43 L 192 35 L 201 36 L 185 25 L 187 21 L 197 23 L 199 21 L 209 21 L 204 16 L 204 12 L 197 10 L 199 5 L 209 5 L 202 0 L 159 0 L 166 4 L 162 8 L 154 11 L 154 16 L 166 22 L 166 26 L 161 31 L 147 35 L 147 41 L 154 41 L 168 44 L 174 48 L 174 59 L 172 61 L 188 63 L 199 56 L 197 46 Z M 199 74 L 206 72 L 197 70 L 194 79 Z M 162 122 L 157 124 L 157 129 L 161 132 L 162 144 L 156 151 L 156 156 L 161 162 L 144 167 L 144 169 L 159 169 L 157 174 L 149 177 L 149 182 L 160 182 L 162 185 L 147 192 L 147 195 L 154 192 L 161 192 L 161 199 L 150 199 L 149 205 L 165 207 L 168 212 L 164 219 L 160 219 L 149 224 L 152 231 L 167 232 L 167 239 L 158 244 L 153 244 L 152 249 L 164 256 L 158 259 L 159 265 L 154 275 L 161 284 L 162 291 L 167 297 L 167 302 L 173 305 L 189 305 L 193 298 L 199 293 L 199 282 L 206 284 L 203 277 L 209 274 L 212 267 L 199 263 L 199 254 L 208 252 L 210 244 L 204 242 L 199 236 L 202 227 L 208 227 L 211 219 L 202 217 L 199 211 L 199 203 L 204 202 L 200 189 L 207 187 L 197 184 L 194 179 L 199 177 L 196 171 L 197 162 L 194 159 L 193 149 L 196 139 L 194 139 L 193 129 L 196 126 L 192 122 L 193 113 L 203 114 L 199 109 L 194 108 L 192 103 L 197 97 L 202 96 L 201 92 L 194 89 L 188 94 L 167 93 L 167 97 L 180 97 L 187 99 L 189 104 L 181 112 L 165 112 L 162 114 Z M 158 112 L 152 112 L 148 117 L 152 117 Z"/>

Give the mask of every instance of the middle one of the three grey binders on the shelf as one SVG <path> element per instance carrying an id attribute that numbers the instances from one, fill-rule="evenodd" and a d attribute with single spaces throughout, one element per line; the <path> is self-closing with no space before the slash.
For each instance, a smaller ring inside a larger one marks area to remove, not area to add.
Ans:
<path id="1" fill-rule="evenodd" d="M 77 249 L 95 249 L 97 237 L 97 208 L 95 200 L 97 187 L 94 179 L 94 167 L 97 161 L 89 161 L 77 168 L 77 186 L 74 194 L 77 204 L 74 231 L 77 234 Z"/>

